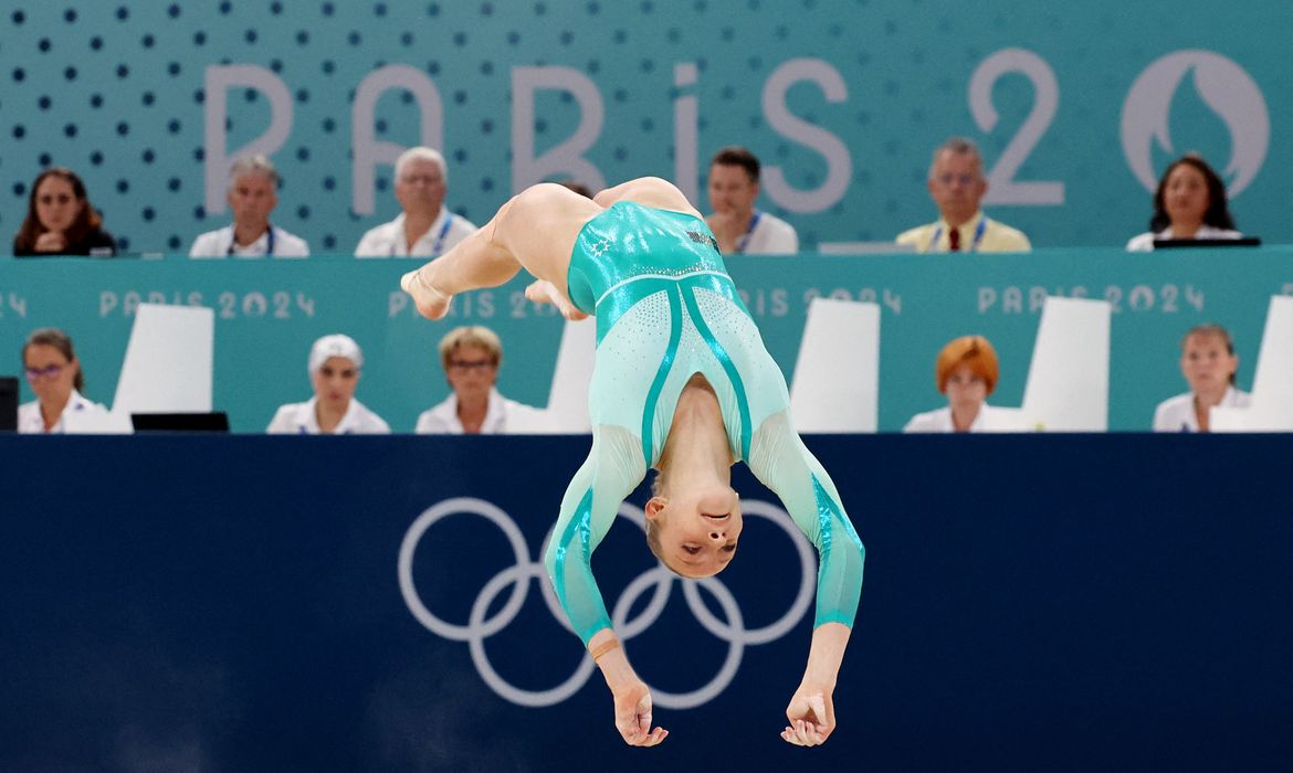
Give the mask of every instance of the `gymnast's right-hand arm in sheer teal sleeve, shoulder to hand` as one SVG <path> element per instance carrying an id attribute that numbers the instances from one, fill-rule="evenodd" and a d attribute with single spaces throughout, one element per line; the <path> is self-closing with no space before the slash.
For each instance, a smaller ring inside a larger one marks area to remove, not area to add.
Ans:
<path id="1" fill-rule="evenodd" d="M 857 614 L 866 556 L 830 476 L 790 425 L 789 411 L 765 419 L 750 443 L 751 472 L 775 491 L 817 548 L 817 615 L 803 680 L 786 708 L 790 743 L 822 743 L 835 728 L 833 694 Z"/>

